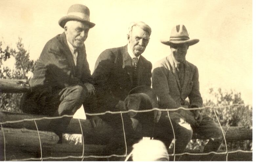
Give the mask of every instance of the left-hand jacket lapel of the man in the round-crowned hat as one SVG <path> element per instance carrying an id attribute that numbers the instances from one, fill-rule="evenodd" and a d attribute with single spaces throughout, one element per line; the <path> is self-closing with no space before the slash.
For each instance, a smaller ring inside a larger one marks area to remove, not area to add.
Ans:
<path id="1" fill-rule="evenodd" d="M 68 46 L 68 43 L 67 43 L 65 33 L 63 32 L 60 37 L 61 37 L 61 41 L 62 41 L 62 44 L 63 44 L 63 47 L 64 47 L 63 53 L 66 56 L 70 66 L 72 67 L 72 74 L 74 75 L 75 74 L 75 63 L 74 63 L 72 53 L 71 53 L 71 51 L 69 49 L 69 46 Z"/>

